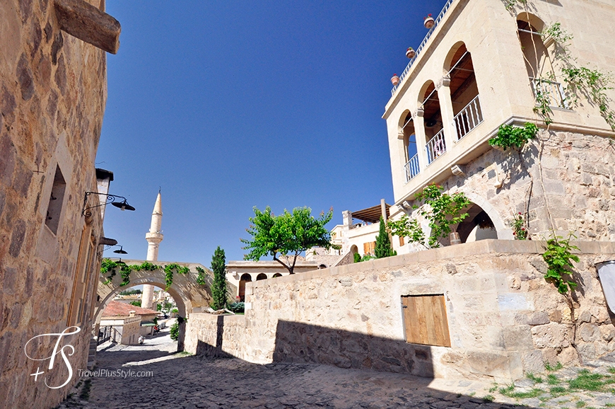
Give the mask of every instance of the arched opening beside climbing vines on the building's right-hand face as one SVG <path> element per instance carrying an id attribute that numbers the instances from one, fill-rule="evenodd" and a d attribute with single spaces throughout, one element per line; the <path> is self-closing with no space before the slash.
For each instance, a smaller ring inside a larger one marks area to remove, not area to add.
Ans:
<path id="1" fill-rule="evenodd" d="M 523 59 L 529 83 L 537 103 L 549 107 L 568 108 L 561 83 L 556 81 L 549 50 L 542 40 L 544 22 L 529 13 L 517 17 L 517 34 L 521 43 Z"/>

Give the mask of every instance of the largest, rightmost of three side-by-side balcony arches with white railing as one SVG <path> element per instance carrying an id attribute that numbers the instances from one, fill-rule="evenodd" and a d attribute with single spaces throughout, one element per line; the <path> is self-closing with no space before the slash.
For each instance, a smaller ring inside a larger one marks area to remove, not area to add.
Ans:
<path id="1" fill-rule="evenodd" d="M 454 115 L 457 139 L 462 139 L 483 122 L 479 99 L 479 87 L 474 74 L 472 54 L 463 42 L 458 42 L 449 52 L 448 71 L 450 78 L 450 100 Z"/>

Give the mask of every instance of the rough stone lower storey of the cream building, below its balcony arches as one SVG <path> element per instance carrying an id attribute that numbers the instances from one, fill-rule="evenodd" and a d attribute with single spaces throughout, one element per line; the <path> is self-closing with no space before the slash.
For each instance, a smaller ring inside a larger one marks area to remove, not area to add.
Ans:
<path id="1" fill-rule="evenodd" d="M 553 228 L 580 240 L 615 241 L 615 149 L 609 137 L 546 132 L 523 150 L 491 149 L 465 166 L 465 177 L 451 176 L 443 185 L 462 190 L 505 229 L 499 238 L 513 238 L 510 222 L 525 215 L 529 200 L 529 232 L 548 238 Z M 496 188 L 497 178 L 503 181 Z M 531 176 L 531 177 L 530 177 Z M 532 194 L 528 195 L 530 185 Z"/>

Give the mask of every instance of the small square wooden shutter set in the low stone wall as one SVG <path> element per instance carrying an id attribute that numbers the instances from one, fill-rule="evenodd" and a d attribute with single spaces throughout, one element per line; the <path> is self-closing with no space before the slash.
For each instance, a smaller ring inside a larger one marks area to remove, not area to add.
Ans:
<path id="1" fill-rule="evenodd" d="M 402 296 L 406 342 L 450 347 L 444 295 Z"/>

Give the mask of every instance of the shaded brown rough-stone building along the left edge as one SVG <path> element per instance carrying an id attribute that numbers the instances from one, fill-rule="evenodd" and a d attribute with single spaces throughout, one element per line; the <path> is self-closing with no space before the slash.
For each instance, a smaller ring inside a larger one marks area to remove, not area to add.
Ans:
<path id="1" fill-rule="evenodd" d="M 120 29 L 103 10 L 99 0 L 0 2 L 0 396 L 6 408 L 53 407 L 77 381 L 59 355 L 50 368 L 58 338 L 59 348 L 74 347 L 67 356 L 74 371 L 87 364 L 98 252 L 110 241 L 102 236 L 102 212 L 84 209 L 100 205 L 98 186 L 106 190 L 112 180 L 112 173 L 95 171 L 94 161 L 107 98 L 105 51 L 117 51 Z M 70 326 L 80 332 L 59 337 Z"/>

